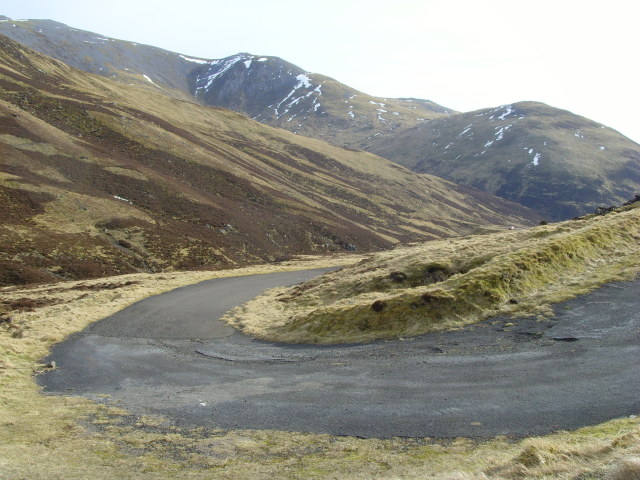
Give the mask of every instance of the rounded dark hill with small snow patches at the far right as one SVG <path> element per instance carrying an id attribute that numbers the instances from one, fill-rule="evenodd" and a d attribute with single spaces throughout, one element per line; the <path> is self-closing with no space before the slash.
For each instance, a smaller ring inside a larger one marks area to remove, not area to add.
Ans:
<path id="1" fill-rule="evenodd" d="M 560 220 L 640 192 L 640 145 L 535 102 L 433 119 L 369 149 L 418 172 L 479 188 Z"/>

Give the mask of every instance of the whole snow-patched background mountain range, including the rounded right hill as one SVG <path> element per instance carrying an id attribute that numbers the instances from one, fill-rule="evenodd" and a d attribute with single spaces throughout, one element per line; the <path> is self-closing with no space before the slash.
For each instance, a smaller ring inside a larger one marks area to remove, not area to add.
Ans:
<path id="1" fill-rule="evenodd" d="M 640 145 L 540 103 L 459 113 L 429 100 L 372 97 L 277 57 L 192 58 L 49 20 L 5 19 L 0 33 L 76 68 L 369 151 L 521 203 L 548 220 L 640 192 Z"/>

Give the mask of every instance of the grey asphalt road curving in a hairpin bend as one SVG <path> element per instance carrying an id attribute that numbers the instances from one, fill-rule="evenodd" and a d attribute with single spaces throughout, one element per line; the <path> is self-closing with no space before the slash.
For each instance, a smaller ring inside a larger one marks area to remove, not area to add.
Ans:
<path id="1" fill-rule="evenodd" d="M 252 340 L 217 319 L 319 271 L 210 280 L 145 299 L 53 349 L 50 394 L 184 426 L 361 437 L 539 435 L 640 413 L 640 281 L 556 306 L 366 345 Z M 508 322 L 515 325 L 510 326 Z"/>

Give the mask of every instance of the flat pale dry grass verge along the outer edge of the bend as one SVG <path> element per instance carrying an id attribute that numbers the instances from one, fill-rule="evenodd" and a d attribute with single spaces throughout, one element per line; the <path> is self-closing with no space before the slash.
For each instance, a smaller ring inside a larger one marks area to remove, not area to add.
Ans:
<path id="1" fill-rule="evenodd" d="M 33 380 L 52 344 L 148 295 L 216 276 L 361 258 L 0 289 L 5 308 L 26 309 L 12 311 L 13 322 L 0 327 L 0 478 L 587 479 L 626 472 L 640 456 L 636 418 L 543 438 L 483 442 L 183 430 L 161 418 L 134 417 L 109 404 L 107 395 L 104 405 L 43 396 Z"/>

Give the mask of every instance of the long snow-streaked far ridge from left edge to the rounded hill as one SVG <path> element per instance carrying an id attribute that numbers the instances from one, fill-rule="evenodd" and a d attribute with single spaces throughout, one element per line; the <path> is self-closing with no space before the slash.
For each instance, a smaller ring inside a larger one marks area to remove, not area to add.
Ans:
<path id="1" fill-rule="evenodd" d="M 211 60 L 78 30 L 51 20 L 4 17 L 0 34 L 85 72 L 229 108 L 262 123 L 336 145 L 446 115 L 429 100 L 372 97 L 278 57 L 239 53 Z"/>

